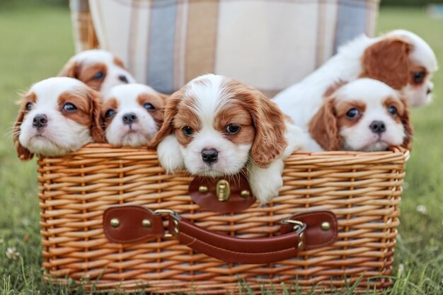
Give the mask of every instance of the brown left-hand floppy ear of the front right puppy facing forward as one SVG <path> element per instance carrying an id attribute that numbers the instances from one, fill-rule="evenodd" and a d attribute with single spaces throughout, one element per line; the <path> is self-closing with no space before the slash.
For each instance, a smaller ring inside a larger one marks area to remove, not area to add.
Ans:
<path id="1" fill-rule="evenodd" d="M 309 134 L 325 151 L 340 150 L 341 139 L 333 96 L 326 98 L 326 102 L 309 121 Z"/>

